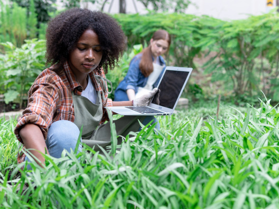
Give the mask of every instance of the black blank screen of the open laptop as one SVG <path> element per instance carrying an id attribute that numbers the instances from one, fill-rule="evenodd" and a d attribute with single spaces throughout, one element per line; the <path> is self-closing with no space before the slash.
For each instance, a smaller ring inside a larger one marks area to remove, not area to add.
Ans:
<path id="1" fill-rule="evenodd" d="M 189 72 L 166 70 L 161 83 L 159 85 L 159 105 L 172 109 L 179 97 L 180 91 L 183 88 L 185 80 Z M 158 104 L 158 95 L 155 95 L 152 102 Z"/>

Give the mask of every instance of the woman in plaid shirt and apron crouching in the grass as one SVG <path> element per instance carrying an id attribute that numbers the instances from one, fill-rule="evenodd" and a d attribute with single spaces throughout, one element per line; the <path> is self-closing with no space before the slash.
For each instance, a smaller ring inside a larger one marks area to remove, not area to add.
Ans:
<path id="1" fill-rule="evenodd" d="M 29 89 L 28 106 L 14 131 L 28 152 L 27 156 L 19 154 L 19 163 L 34 157 L 44 164 L 41 153 L 45 151 L 58 158 L 64 149 L 75 150 L 82 127 L 83 143 L 95 151 L 106 148 L 111 144 L 110 123 L 104 124 L 108 120 L 106 106 L 147 105 L 157 91 L 134 101 L 108 99 L 110 81 L 105 74 L 126 49 L 126 36 L 108 14 L 66 10 L 49 22 L 46 40 L 47 63 L 52 66 Z M 139 131 L 139 120 L 157 123 L 153 116 L 124 116 L 114 121 L 117 135 Z M 121 142 L 119 137 L 118 144 Z"/>

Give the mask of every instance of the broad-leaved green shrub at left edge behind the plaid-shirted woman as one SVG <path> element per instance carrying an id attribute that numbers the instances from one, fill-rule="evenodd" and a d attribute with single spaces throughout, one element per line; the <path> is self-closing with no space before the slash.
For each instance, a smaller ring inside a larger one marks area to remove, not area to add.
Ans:
<path id="1" fill-rule="evenodd" d="M 4 55 L 0 55 L 0 70 L 4 78 L 0 84 L 6 91 L 5 102 L 19 98 L 20 108 L 31 84 L 45 67 L 45 40 L 25 42 L 21 48 L 10 42 L 0 43 L 7 49 Z"/>

